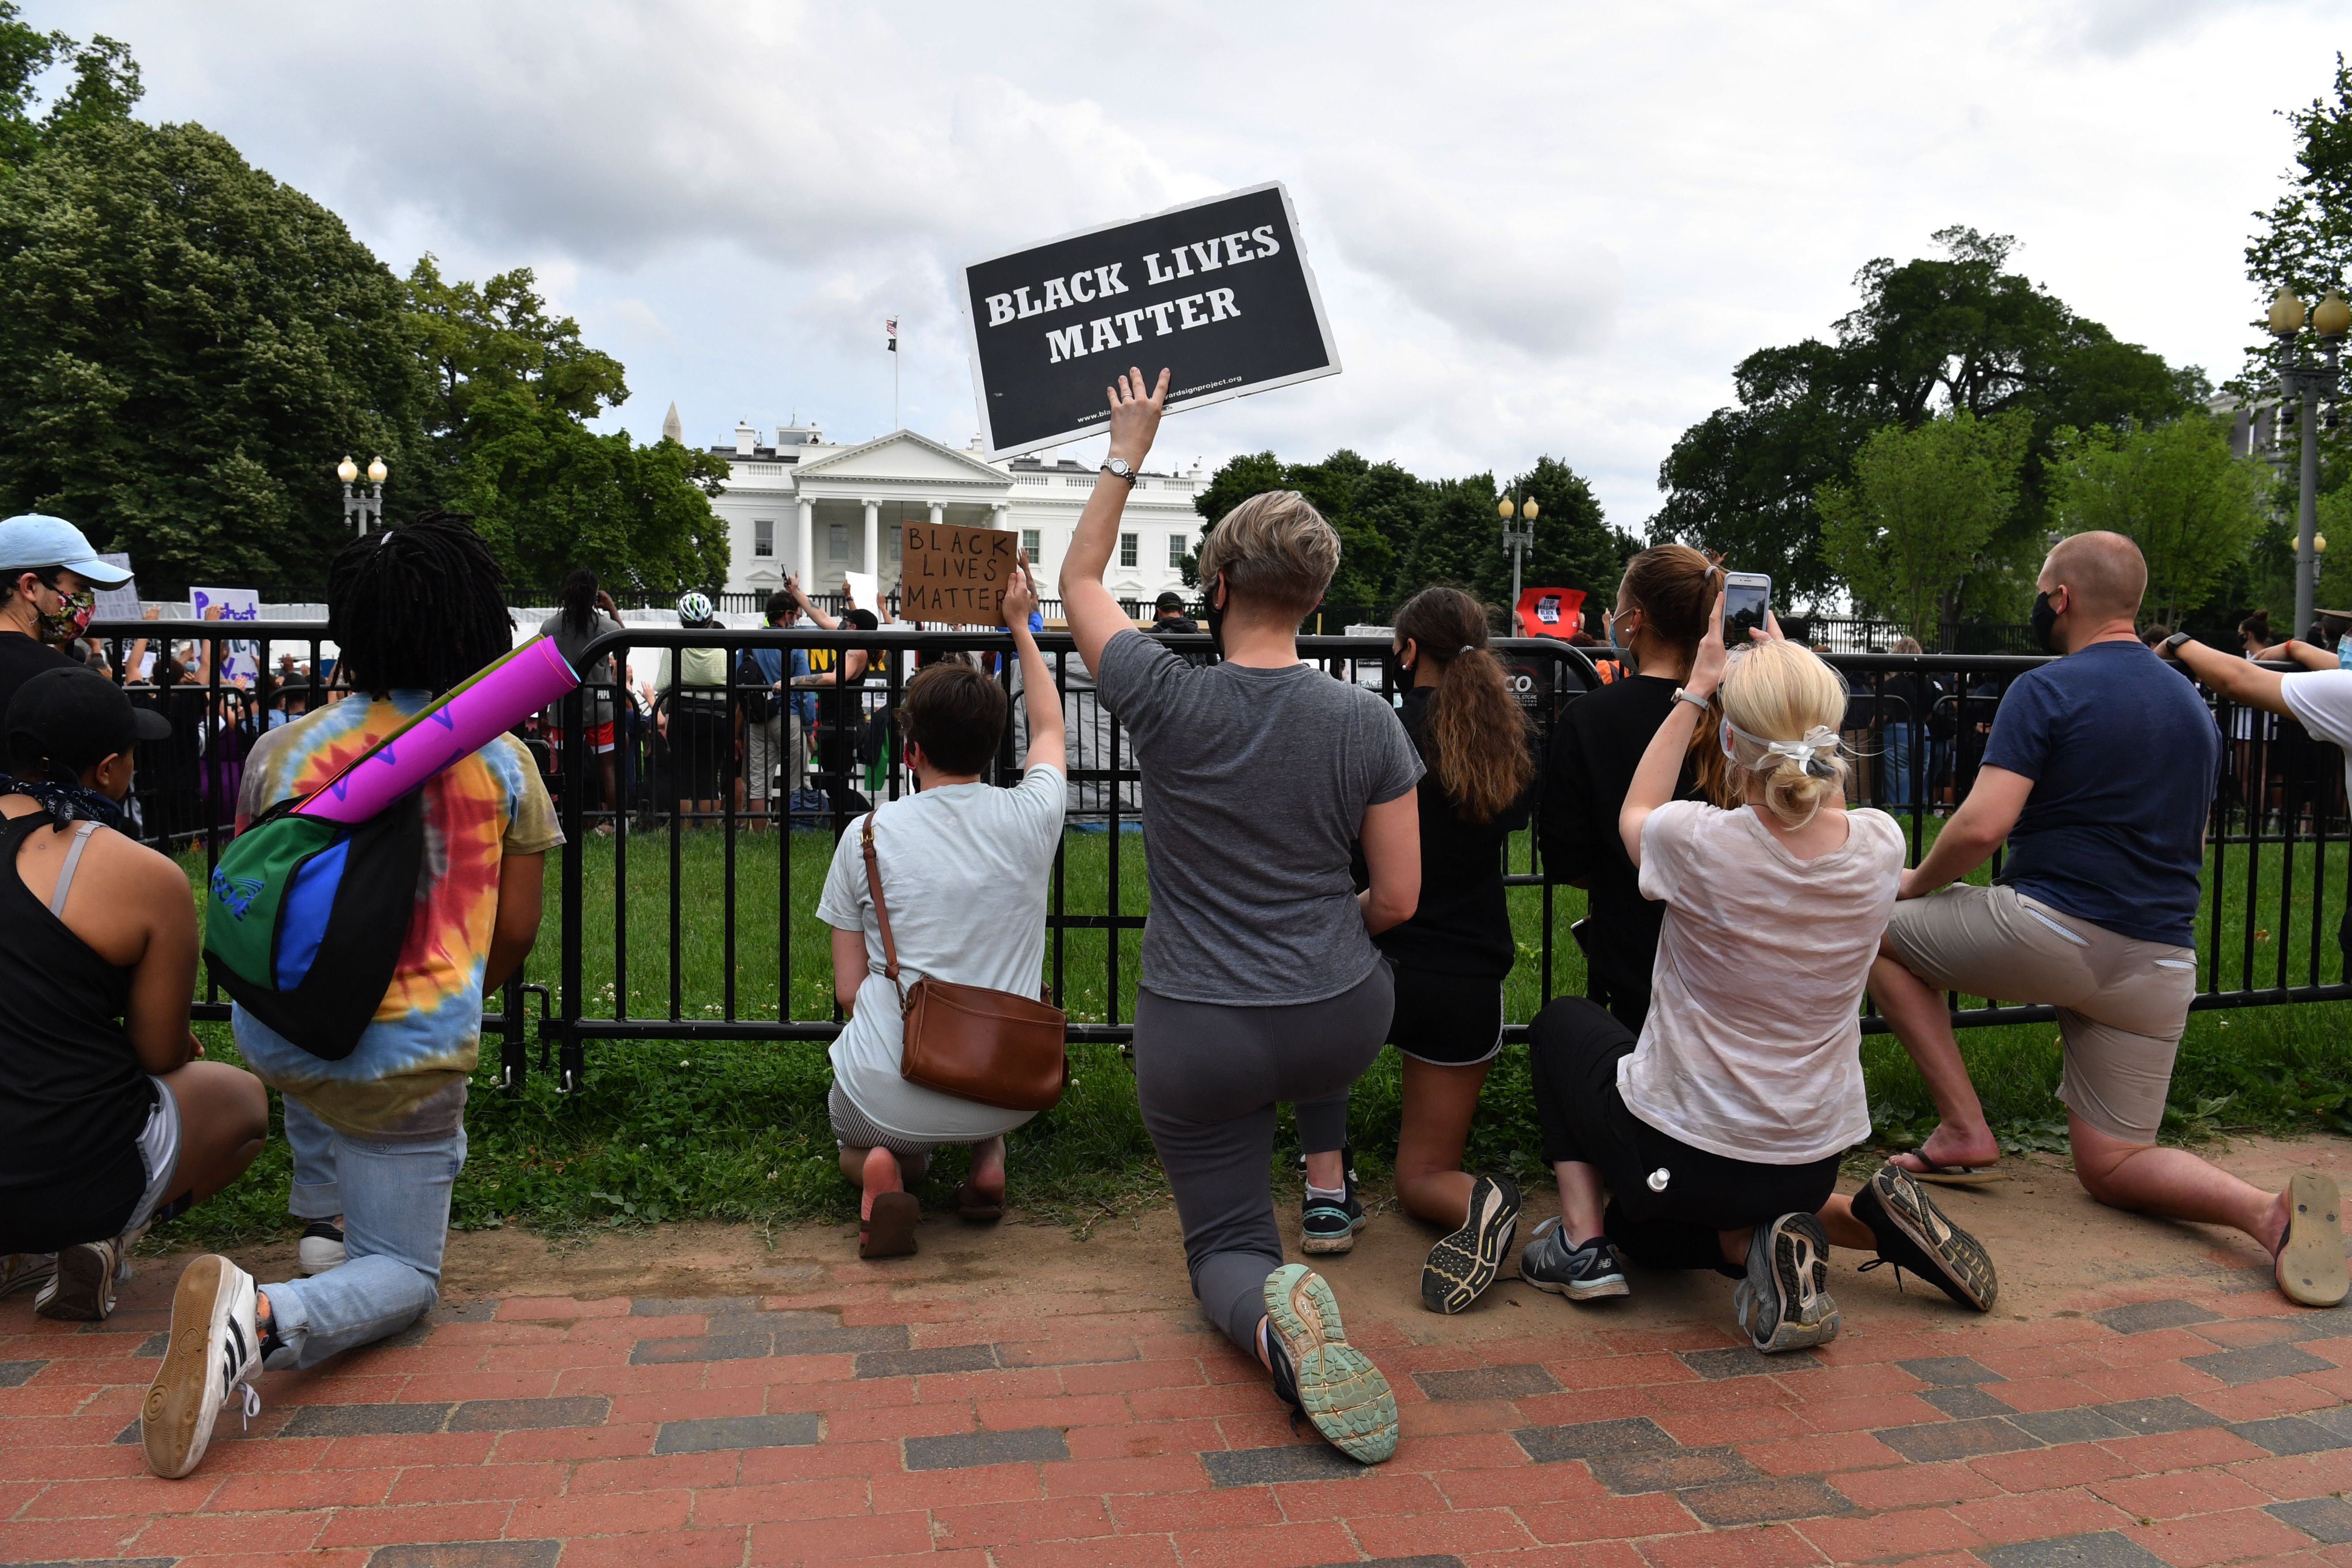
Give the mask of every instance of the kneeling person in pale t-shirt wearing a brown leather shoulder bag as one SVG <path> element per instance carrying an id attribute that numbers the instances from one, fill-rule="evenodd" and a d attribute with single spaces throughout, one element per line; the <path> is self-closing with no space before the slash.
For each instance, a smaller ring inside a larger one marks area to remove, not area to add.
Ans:
<path id="1" fill-rule="evenodd" d="M 901 722 L 917 795 L 873 811 L 901 985 L 931 976 L 1037 994 L 1047 875 L 1061 846 L 1068 771 L 1061 701 L 1028 630 L 1033 604 L 1035 588 L 1023 569 L 1004 595 L 1030 736 L 1016 788 L 981 783 L 1004 736 L 1002 686 L 967 663 L 938 663 L 908 682 Z M 863 837 L 866 820 L 851 820 L 816 903 L 816 917 L 833 926 L 833 994 L 849 1013 L 833 1041 L 830 1112 L 842 1173 L 863 1187 L 858 1255 L 903 1258 L 915 1251 L 920 1218 L 906 1185 L 922 1175 L 931 1150 L 971 1145 L 971 1175 L 957 1190 L 957 1208 L 993 1220 L 1004 1206 L 1004 1133 L 1035 1112 L 962 1100 L 898 1074 L 903 1018 L 898 990 L 884 976 Z M 985 919 L 976 922 L 976 910 L 985 910 Z"/>

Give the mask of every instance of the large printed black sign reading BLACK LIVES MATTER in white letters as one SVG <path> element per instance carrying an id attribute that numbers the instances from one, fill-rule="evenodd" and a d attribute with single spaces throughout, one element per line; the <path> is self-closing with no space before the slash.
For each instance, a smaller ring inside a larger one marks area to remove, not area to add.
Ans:
<path id="1" fill-rule="evenodd" d="M 1129 367 L 1171 371 L 1169 409 L 1338 374 L 1279 183 L 974 261 L 962 308 L 1000 458 L 1098 435 Z"/>

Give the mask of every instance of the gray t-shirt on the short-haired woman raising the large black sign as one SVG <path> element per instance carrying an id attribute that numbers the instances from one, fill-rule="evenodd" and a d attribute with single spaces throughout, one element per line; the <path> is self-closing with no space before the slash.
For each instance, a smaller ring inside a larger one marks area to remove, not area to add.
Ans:
<path id="1" fill-rule="evenodd" d="M 1143 985 L 1174 1001 L 1336 997 L 1381 952 L 1348 860 L 1364 806 L 1421 783 L 1395 708 L 1315 665 L 1188 665 L 1120 632 L 1096 672 L 1143 769 Z"/>

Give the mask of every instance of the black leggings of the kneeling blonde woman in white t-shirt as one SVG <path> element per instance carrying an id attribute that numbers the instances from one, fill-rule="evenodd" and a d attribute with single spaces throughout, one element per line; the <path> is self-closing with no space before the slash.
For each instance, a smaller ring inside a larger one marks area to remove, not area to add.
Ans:
<path id="1" fill-rule="evenodd" d="M 1543 1159 L 1597 1166 L 1609 1187 L 1602 1229 L 1653 1269 L 1717 1269 L 1717 1232 L 1816 1213 L 1837 1192 L 1837 1154 L 1802 1166 L 1724 1159 L 1661 1133 L 1616 1091 L 1618 1058 L 1635 1034 L 1585 997 L 1550 1001 L 1526 1027 Z"/>

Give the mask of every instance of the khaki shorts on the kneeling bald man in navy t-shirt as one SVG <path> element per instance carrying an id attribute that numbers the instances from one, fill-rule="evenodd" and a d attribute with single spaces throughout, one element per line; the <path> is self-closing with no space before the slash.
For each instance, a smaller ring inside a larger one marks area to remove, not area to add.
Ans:
<path id="1" fill-rule="evenodd" d="M 2096 1131 L 2154 1143 L 2197 994 L 2197 950 L 2143 943 L 2009 886 L 1896 905 L 1886 945 L 1936 990 L 2058 1006 L 2058 1098 Z"/>

